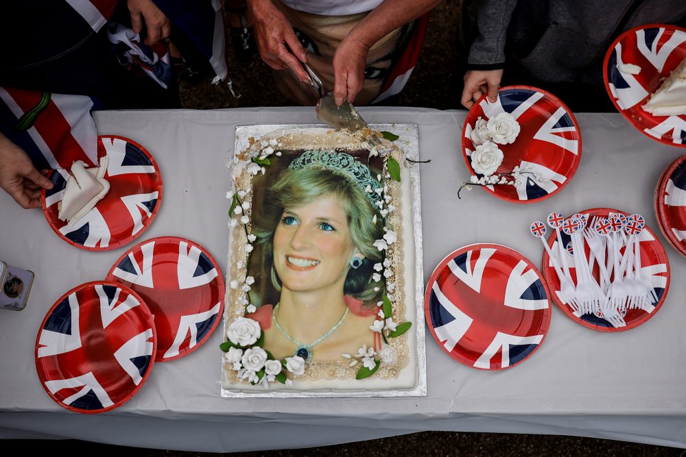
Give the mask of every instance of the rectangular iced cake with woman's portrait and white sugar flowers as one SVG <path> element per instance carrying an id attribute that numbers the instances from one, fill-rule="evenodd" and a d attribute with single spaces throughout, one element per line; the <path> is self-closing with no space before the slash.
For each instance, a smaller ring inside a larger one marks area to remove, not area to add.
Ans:
<path id="1" fill-rule="evenodd" d="M 416 127 L 397 128 L 237 128 L 223 396 L 424 395 Z"/>

